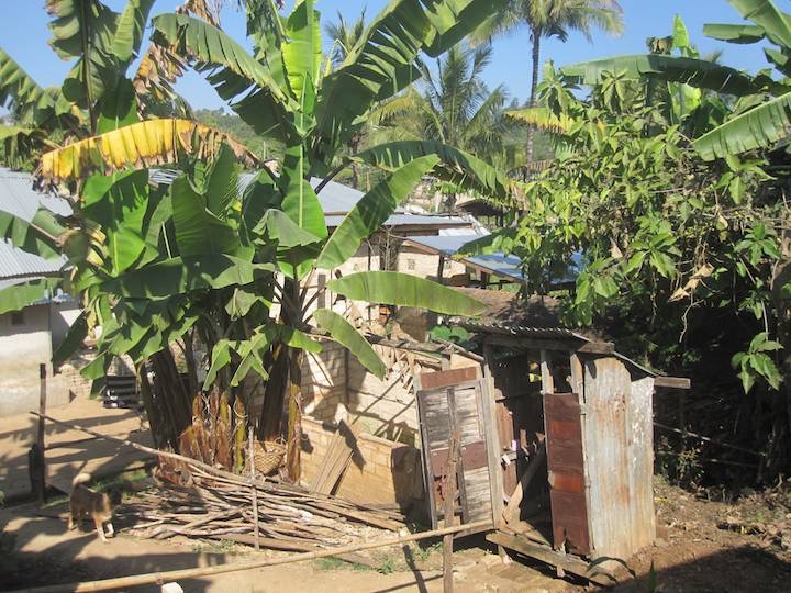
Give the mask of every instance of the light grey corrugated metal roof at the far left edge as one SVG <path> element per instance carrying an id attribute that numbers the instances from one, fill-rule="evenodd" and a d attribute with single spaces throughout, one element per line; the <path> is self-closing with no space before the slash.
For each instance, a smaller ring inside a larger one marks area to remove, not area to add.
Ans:
<path id="1" fill-rule="evenodd" d="M 67 216 L 71 214 L 68 200 L 51 192 L 33 189 L 33 176 L 0 167 L 0 210 L 25 221 L 33 220 L 40 208 Z M 0 239 L 0 279 L 30 279 L 57 273 L 66 258 L 46 260 Z"/>

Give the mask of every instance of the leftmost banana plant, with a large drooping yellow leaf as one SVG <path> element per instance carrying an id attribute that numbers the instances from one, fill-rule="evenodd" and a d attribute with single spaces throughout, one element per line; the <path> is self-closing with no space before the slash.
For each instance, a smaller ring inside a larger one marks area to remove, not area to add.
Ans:
<path id="1" fill-rule="evenodd" d="M 134 81 L 126 78 L 132 74 L 131 68 L 141 54 L 143 31 L 153 4 L 154 0 L 129 0 L 122 11 L 115 12 L 98 0 L 47 0 L 46 10 L 53 16 L 49 24 L 51 45 L 60 58 L 74 63 L 59 88 L 41 87 L 0 48 L 0 104 L 10 111 L 10 122 L 0 125 L 0 143 L 7 164 L 18 166 L 24 163 L 36 166 L 42 152 L 68 144 L 70 154 L 76 159 L 75 166 L 79 166 L 80 158 L 90 157 L 91 136 L 135 123 L 138 114 L 145 115 L 155 108 L 159 109 L 164 102 L 174 100 L 172 94 L 161 92 L 153 99 L 155 87 L 172 83 L 183 69 L 171 67 L 172 64 L 182 63 L 159 46 L 152 45 L 143 54 Z M 216 23 L 211 5 L 207 0 L 187 0 L 178 11 Z M 175 157 L 176 153 L 185 147 L 189 147 L 190 152 L 200 149 L 204 154 L 212 154 L 223 139 L 234 147 L 237 155 L 244 155 L 249 163 L 255 161 L 253 155 L 224 134 L 191 121 L 176 124 L 170 121 L 147 122 L 144 125 L 146 133 L 135 134 L 132 139 L 147 143 L 146 149 L 149 153 L 156 150 L 158 156 L 155 161 L 160 161 L 166 150 L 170 150 Z M 154 137 L 160 138 L 160 142 L 152 143 Z M 126 137 L 126 142 L 129 141 Z M 116 148 L 113 155 L 115 159 L 126 158 L 127 155 L 118 153 L 119 148 L 123 149 L 122 142 L 112 143 L 112 146 Z M 145 159 L 145 149 L 142 155 L 136 155 L 137 163 L 141 163 L 137 158 L 141 156 Z M 71 190 L 75 189 L 73 186 Z M 73 210 L 74 215 L 68 227 L 59 230 L 68 231 L 70 246 L 77 243 L 77 235 L 85 234 L 89 222 L 81 220 L 82 209 L 79 201 L 73 203 Z M 53 214 L 40 212 L 36 216 L 49 219 Z M 0 219 L 5 221 L 0 223 L 0 236 L 14 243 L 18 243 L 15 239 L 19 238 L 21 228 L 25 230 L 25 234 L 31 225 L 34 230 L 42 230 L 34 224 L 35 220 L 14 221 L 14 216 L 7 212 L 0 212 Z M 53 235 L 54 232 L 53 228 L 45 230 L 41 240 L 22 248 L 32 249 L 31 253 L 47 259 L 65 255 L 74 265 L 79 259 L 74 249 L 71 253 L 55 255 L 49 249 L 37 249 L 43 247 L 45 242 L 52 243 L 58 238 Z M 89 243 L 90 233 L 80 240 Z M 55 243 L 53 245 L 57 247 Z M 65 243 L 63 245 L 66 246 Z M 31 290 L 25 290 L 26 288 Z M 10 292 L 2 291 L 2 299 L 24 306 L 41 298 L 41 292 L 36 293 L 35 282 L 18 286 L 13 293 L 12 299 Z M 24 302 L 21 300 L 22 294 L 30 294 L 31 300 Z"/>

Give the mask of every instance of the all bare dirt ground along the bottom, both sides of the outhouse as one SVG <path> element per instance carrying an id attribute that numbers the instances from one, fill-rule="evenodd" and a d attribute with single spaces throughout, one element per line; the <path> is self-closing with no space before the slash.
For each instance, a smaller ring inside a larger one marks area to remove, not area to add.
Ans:
<path id="1" fill-rule="evenodd" d="M 624 570 L 614 590 L 791 591 L 791 489 L 743 493 L 737 502 L 711 499 L 711 494 L 695 495 L 657 482 L 657 542 L 627 561 L 636 579 Z M 133 529 L 123 521 L 118 525 L 120 534 L 101 544 L 87 526 L 67 532 L 64 517 L 65 505 L 38 510 L 29 504 L 0 512 L 0 525 L 4 526 L 0 590 L 280 556 L 224 542 L 146 539 L 131 535 Z M 482 538 L 463 539 L 456 550 L 457 592 L 581 593 L 598 589 L 556 579 L 553 570 L 539 563 L 503 564 Z M 369 563 L 323 559 L 191 579 L 180 584 L 188 592 L 238 593 L 285 588 L 289 593 L 442 590 L 442 549 L 437 542 L 372 552 Z"/>

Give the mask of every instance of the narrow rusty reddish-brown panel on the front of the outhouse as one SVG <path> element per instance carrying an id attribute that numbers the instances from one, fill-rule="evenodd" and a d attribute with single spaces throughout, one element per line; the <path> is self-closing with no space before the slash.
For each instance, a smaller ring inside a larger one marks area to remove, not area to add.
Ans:
<path id="1" fill-rule="evenodd" d="M 555 548 L 590 553 L 582 418 L 576 393 L 545 393 L 549 501 Z"/>

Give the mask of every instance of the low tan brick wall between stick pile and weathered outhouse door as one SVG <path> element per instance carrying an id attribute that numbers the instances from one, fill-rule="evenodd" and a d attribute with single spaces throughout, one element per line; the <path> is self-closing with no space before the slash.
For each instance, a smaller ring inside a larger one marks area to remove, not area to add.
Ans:
<path id="1" fill-rule="evenodd" d="M 302 430 L 302 481 L 310 486 L 337 425 L 304 418 Z M 416 510 L 424 499 L 420 451 L 401 443 L 359 434 L 357 450 L 335 494 L 359 503 L 398 504 L 404 513 Z"/>

